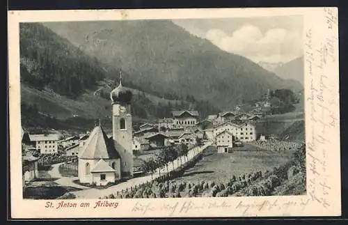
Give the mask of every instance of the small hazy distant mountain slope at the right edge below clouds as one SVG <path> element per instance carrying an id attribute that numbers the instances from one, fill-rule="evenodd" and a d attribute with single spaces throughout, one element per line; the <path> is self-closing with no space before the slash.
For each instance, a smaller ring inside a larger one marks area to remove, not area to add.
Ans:
<path id="1" fill-rule="evenodd" d="M 303 56 L 296 58 L 276 68 L 274 73 L 283 79 L 293 79 L 303 84 L 304 68 Z"/>

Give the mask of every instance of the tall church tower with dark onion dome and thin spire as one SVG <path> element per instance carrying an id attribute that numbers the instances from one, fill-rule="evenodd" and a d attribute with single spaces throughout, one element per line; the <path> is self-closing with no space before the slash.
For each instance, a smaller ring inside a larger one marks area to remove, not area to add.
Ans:
<path id="1" fill-rule="evenodd" d="M 120 84 L 110 93 L 112 101 L 113 141 L 120 154 L 120 169 L 122 178 L 133 176 L 132 149 L 132 92 L 122 86 L 122 71 L 120 70 Z"/>

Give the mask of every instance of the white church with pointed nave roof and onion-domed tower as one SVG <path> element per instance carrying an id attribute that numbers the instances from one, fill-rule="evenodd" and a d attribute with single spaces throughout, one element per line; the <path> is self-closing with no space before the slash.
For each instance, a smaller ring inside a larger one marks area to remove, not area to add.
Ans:
<path id="1" fill-rule="evenodd" d="M 96 125 L 79 152 L 79 182 L 106 185 L 133 177 L 132 92 L 120 84 L 110 93 L 112 101 L 112 137 Z"/>

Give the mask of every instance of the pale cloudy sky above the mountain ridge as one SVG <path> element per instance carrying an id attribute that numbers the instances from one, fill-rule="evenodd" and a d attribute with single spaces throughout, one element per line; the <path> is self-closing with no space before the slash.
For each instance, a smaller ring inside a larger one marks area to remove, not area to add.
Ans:
<path id="1" fill-rule="evenodd" d="M 189 33 L 255 63 L 286 63 L 303 54 L 301 16 L 173 20 Z"/>

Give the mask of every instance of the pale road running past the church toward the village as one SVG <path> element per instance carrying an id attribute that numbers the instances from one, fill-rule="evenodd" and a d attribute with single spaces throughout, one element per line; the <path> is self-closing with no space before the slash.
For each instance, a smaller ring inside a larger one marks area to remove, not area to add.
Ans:
<path id="1" fill-rule="evenodd" d="M 212 143 L 210 141 L 206 142 L 203 146 L 192 148 L 189 150 L 189 153 L 186 156 L 179 157 L 177 160 L 174 160 L 174 162 L 168 163 L 168 172 L 173 171 L 174 169 L 177 169 L 178 166 L 180 166 L 180 162 L 184 164 L 184 162 L 188 162 L 193 159 L 196 155 L 201 153 L 205 148 L 210 146 Z M 181 161 L 182 160 L 182 161 Z M 108 196 L 109 194 L 116 194 L 116 192 L 121 192 L 122 189 L 130 189 L 131 187 L 135 187 L 138 185 L 141 185 L 143 183 L 150 182 L 151 180 L 155 180 L 155 178 L 158 178 L 159 175 L 164 175 L 167 173 L 167 168 L 164 166 L 160 171 L 157 169 L 155 173 L 148 176 L 142 176 L 139 178 L 132 178 L 129 179 L 123 183 L 120 183 L 118 185 L 114 185 L 112 187 L 108 187 L 106 189 L 95 189 L 95 188 L 89 188 L 84 187 L 81 185 L 77 185 L 73 182 L 73 180 L 77 180 L 77 177 L 63 177 L 58 171 L 58 167 L 62 163 L 59 164 L 53 164 L 53 169 L 49 171 L 49 175 L 53 178 L 59 178 L 58 180 L 55 180 L 54 182 L 58 183 L 58 185 L 62 186 L 70 186 L 70 187 L 77 187 L 81 190 L 72 192 L 77 199 L 98 199 L 99 197 Z"/>

